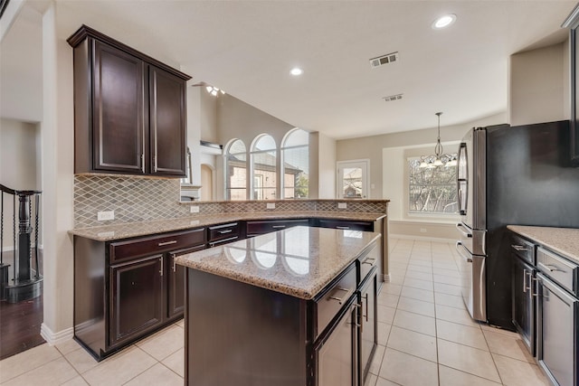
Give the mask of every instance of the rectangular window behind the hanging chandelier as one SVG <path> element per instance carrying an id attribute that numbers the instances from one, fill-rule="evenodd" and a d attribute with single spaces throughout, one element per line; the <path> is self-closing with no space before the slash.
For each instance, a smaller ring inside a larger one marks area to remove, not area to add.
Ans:
<path id="1" fill-rule="evenodd" d="M 420 165 L 420 158 L 408 159 L 408 212 L 456 214 L 459 210 L 456 167 L 444 165 L 420 167 Z"/>

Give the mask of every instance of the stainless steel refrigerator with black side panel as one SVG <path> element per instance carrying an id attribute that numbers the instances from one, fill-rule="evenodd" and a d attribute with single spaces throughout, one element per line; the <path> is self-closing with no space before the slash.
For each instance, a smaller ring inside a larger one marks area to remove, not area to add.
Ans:
<path id="1" fill-rule="evenodd" d="M 508 224 L 579 227 L 579 169 L 568 121 L 473 128 L 457 185 L 462 297 L 473 319 L 514 330 Z"/>

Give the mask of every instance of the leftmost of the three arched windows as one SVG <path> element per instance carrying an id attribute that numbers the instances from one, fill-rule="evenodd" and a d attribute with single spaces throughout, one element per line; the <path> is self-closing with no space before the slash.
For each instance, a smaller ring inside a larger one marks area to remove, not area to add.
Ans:
<path id="1" fill-rule="evenodd" d="M 227 146 L 225 172 L 226 199 L 247 200 L 247 150 L 241 139 Z"/>

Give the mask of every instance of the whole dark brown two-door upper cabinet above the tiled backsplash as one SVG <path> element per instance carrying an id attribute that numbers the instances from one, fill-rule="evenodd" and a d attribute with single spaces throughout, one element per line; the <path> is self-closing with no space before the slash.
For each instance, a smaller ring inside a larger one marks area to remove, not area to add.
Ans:
<path id="1" fill-rule="evenodd" d="M 86 25 L 74 49 L 74 173 L 185 176 L 191 79 Z"/>

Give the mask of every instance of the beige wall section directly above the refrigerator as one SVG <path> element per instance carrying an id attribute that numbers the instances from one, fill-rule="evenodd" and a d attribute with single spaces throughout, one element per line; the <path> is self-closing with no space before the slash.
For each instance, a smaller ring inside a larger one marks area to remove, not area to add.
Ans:
<path id="1" fill-rule="evenodd" d="M 512 126 L 569 118 L 565 50 L 567 42 L 510 56 L 508 115 Z"/>

